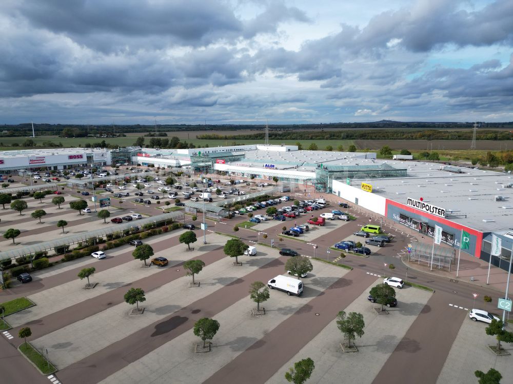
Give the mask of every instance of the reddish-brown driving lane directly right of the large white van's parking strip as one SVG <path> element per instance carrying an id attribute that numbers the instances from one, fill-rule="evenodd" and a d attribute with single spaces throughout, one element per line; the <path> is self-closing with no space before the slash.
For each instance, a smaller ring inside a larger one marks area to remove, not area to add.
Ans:
<path id="1" fill-rule="evenodd" d="M 350 271 L 204 382 L 265 382 L 374 281 Z"/>

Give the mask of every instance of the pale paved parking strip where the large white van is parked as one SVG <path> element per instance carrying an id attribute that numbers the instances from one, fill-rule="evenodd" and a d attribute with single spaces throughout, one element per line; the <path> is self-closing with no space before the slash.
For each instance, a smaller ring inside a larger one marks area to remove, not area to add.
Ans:
<path id="1" fill-rule="evenodd" d="M 328 264 L 315 261 L 312 264 L 313 274 L 303 279 L 305 296 L 287 296 L 273 290 L 263 304 L 265 316 L 250 315 L 256 305 L 248 296 L 216 314 L 214 318 L 221 327 L 214 337 L 211 353 L 194 353 L 192 346 L 200 340 L 191 331 L 185 332 L 102 382 L 169 382 L 170 378 L 173 383 L 202 382 L 348 273 Z M 201 369 L 197 369 L 199 366 Z"/>

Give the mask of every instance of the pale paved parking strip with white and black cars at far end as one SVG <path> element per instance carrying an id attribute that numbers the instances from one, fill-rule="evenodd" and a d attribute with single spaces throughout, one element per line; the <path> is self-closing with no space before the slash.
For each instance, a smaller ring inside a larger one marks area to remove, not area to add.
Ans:
<path id="1" fill-rule="evenodd" d="M 431 296 L 431 293 L 415 288 L 396 290 L 398 306 L 387 308 L 388 315 L 380 315 L 374 310 L 380 306 L 367 300 L 370 288 L 378 283 L 381 283 L 381 279 L 369 285 L 356 300 L 343 309 L 346 312 L 363 314 L 365 334 L 355 340 L 358 353 L 342 352 L 340 343 L 343 341 L 343 334 L 337 328 L 336 320 L 333 320 L 267 383 L 283 383 L 285 372 L 293 367 L 294 362 L 306 357 L 310 357 L 315 363 L 309 383 L 371 382 Z"/>

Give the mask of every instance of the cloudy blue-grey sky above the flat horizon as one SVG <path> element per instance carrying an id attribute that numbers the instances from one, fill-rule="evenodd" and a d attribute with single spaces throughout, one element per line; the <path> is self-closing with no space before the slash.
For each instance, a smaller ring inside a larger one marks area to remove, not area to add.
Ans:
<path id="1" fill-rule="evenodd" d="M 513 121 L 511 0 L 2 0 L 0 123 Z"/>

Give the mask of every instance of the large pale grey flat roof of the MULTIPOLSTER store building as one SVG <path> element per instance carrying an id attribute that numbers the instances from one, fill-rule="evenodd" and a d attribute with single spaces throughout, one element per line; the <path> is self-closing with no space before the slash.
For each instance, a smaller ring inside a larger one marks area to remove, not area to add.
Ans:
<path id="1" fill-rule="evenodd" d="M 443 164 L 416 161 L 387 163 L 407 167 L 408 177 L 361 179 L 372 184 L 372 193 L 402 204 L 408 198 L 422 197 L 424 202 L 445 208 L 446 219 L 483 232 L 513 228 L 513 188 L 507 187 L 513 185 L 513 175 L 466 167 L 452 167 L 448 172 L 441 169 Z M 456 173 L 458 169 L 463 173 Z M 496 196 L 503 200 L 497 201 Z"/>

